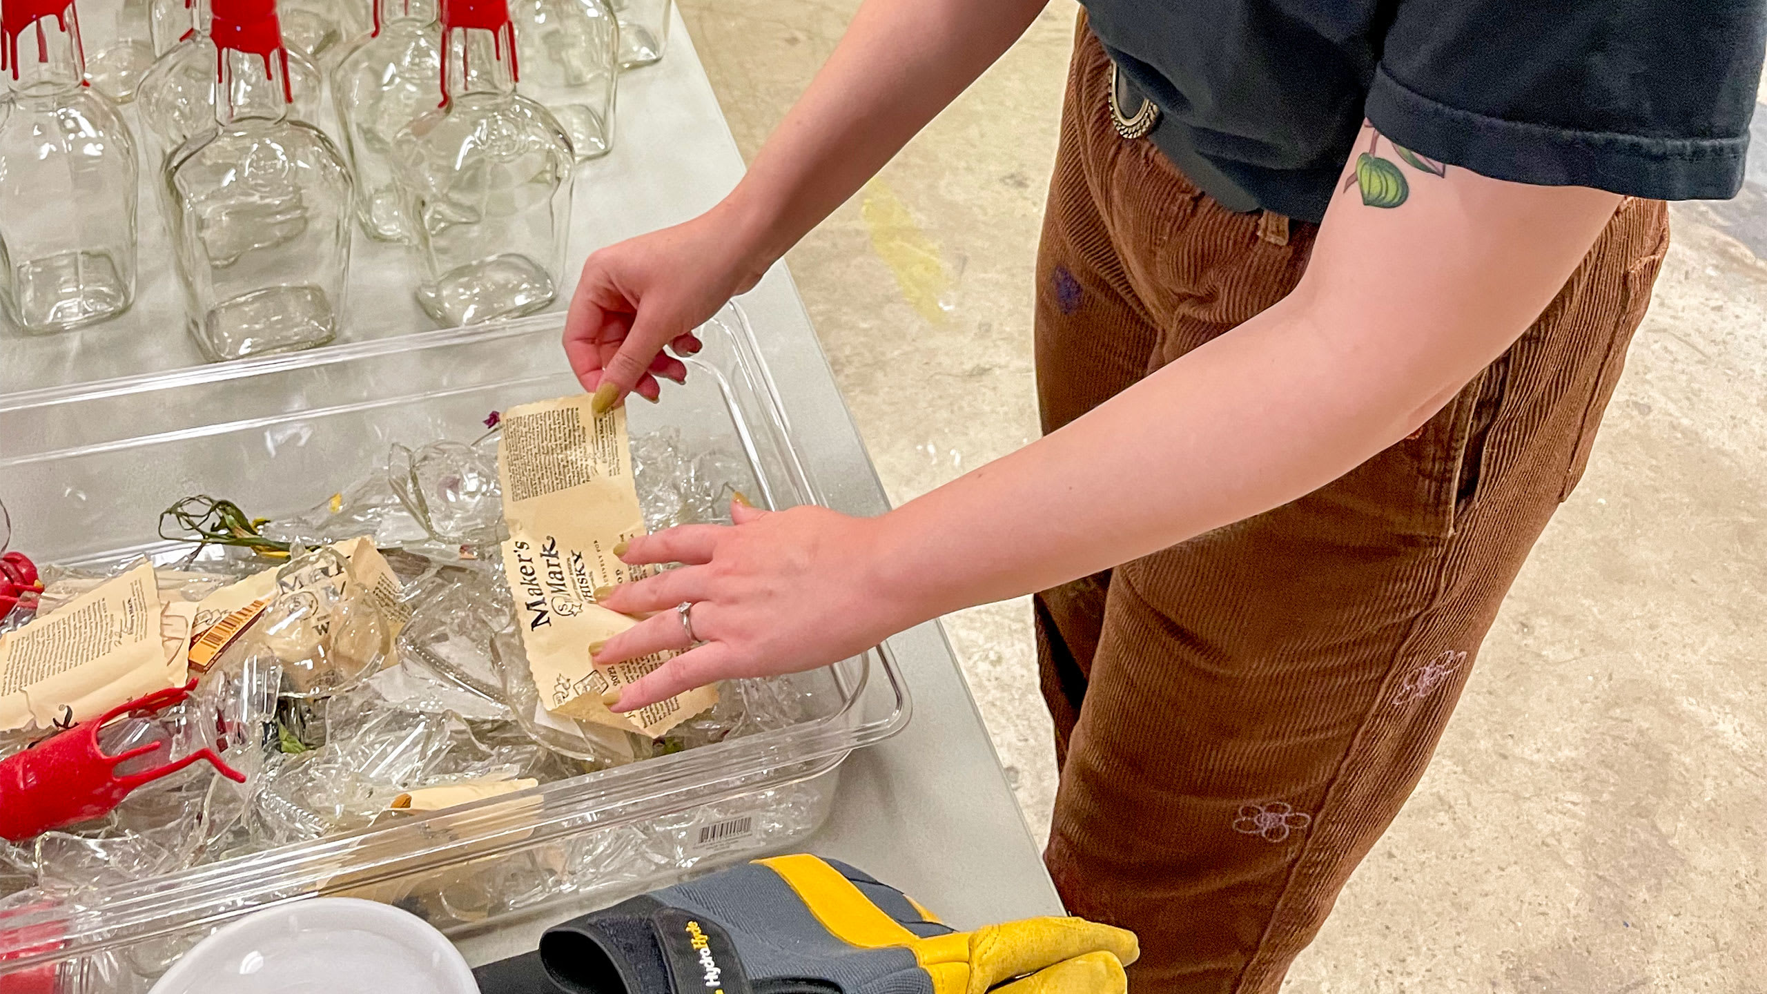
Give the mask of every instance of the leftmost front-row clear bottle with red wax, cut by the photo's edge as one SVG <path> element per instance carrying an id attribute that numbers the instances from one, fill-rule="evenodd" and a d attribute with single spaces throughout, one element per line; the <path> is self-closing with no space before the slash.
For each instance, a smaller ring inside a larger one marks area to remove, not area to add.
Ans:
<path id="1" fill-rule="evenodd" d="M 0 302 L 27 333 L 117 317 L 134 301 L 134 138 L 83 85 L 74 4 L 5 0 L 0 67 Z"/>

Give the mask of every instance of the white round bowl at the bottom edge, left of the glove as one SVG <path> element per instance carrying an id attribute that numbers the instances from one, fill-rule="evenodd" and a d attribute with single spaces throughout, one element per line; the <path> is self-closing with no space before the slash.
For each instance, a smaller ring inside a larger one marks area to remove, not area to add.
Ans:
<path id="1" fill-rule="evenodd" d="M 373 900 L 267 907 L 209 936 L 148 994 L 479 994 L 459 950 Z"/>

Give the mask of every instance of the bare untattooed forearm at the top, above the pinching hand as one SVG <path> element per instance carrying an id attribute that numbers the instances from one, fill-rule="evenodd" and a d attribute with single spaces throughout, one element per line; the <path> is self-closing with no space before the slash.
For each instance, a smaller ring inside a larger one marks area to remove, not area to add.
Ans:
<path id="1" fill-rule="evenodd" d="M 875 175 L 1046 0 L 866 0 L 721 205 L 765 264 Z"/>

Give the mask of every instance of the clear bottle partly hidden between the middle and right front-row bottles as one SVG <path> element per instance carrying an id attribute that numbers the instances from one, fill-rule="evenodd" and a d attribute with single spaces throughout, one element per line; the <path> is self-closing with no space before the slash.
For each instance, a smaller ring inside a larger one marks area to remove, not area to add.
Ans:
<path id="1" fill-rule="evenodd" d="M 442 103 L 436 0 L 376 0 L 373 37 L 332 71 L 332 101 L 355 173 L 362 230 L 380 241 L 412 241 L 392 182 L 392 141 Z"/>

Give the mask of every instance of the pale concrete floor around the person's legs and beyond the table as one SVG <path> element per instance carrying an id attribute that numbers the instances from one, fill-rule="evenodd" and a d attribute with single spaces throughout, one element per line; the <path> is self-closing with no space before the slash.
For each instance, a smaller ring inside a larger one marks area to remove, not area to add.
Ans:
<path id="1" fill-rule="evenodd" d="M 857 0 L 682 5 L 753 156 Z M 1055 0 L 788 256 L 898 502 L 1035 435 L 1030 272 L 1073 16 Z M 1285 990 L 1767 990 L 1763 191 L 1767 168 L 1735 203 L 1673 209 L 1590 469 Z M 1041 838 L 1055 775 L 1028 605 L 945 624 Z"/>

